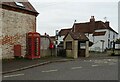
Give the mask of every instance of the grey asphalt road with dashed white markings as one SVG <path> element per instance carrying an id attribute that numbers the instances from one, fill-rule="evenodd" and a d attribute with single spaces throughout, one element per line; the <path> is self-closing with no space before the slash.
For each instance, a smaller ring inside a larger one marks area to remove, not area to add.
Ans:
<path id="1" fill-rule="evenodd" d="M 118 58 L 78 58 L 3 74 L 3 80 L 118 80 Z"/>

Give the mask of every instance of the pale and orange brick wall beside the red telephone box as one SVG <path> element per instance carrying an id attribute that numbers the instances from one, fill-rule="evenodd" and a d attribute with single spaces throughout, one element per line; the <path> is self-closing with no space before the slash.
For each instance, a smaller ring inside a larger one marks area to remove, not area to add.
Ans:
<path id="1" fill-rule="evenodd" d="M 26 33 L 36 30 L 36 17 L 10 10 L 2 10 L 2 58 L 14 57 L 14 45 L 22 46 L 26 55 Z"/>

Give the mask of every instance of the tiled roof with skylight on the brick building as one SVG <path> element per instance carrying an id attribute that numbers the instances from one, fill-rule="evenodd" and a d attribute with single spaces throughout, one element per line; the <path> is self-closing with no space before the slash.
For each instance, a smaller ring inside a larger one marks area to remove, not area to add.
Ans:
<path id="1" fill-rule="evenodd" d="M 34 13 L 36 16 L 39 14 L 34 7 L 29 3 L 29 2 L 20 2 L 24 5 L 24 7 L 20 7 L 18 5 L 16 5 L 15 2 L 2 2 L 2 8 L 8 8 L 8 9 L 12 9 L 12 10 L 24 10 L 24 11 L 28 11 L 28 12 L 32 12 Z M 13 9 L 14 8 L 14 9 Z"/>

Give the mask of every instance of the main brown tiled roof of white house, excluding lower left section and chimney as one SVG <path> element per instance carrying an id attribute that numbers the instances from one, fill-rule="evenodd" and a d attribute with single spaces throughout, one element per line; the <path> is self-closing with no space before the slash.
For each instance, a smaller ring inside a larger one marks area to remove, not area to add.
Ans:
<path id="1" fill-rule="evenodd" d="M 75 27 L 75 29 L 74 29 Z M 94 29 L 94 30 L 92 30 Z M 95 30 L 100 30 L 100 29 L 110 29 L 111 31 L 117 33 L 115 30 L 113 30 L 110 26 L 107 26 L 104 22 L 102 21 L 95 21 L 94 27 L 90 26 L 90 22 L 86 23 L 75 23 L 73 25 L 72 31 L 75 30 L 75 32 L 82 32 L 82 33 L 94 33 Z M 118 33 L 117 33 L 118 34 Z"/>

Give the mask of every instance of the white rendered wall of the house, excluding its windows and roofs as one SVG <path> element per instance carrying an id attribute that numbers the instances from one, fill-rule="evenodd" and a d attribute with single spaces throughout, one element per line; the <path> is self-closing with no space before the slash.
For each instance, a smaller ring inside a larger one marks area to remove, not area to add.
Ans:
<path id="1" fill-rule="evenodd" d="M 118 35 L 109 30 L 109 29 L 102 29 L 102 30 L 95 30 L 95 32 L 101 32 L 101 31 L 106 31 L 106 34 L 104 36 L 92 36 L 92 34 L 89 35 L 89 40 L 94 42 L 94 45 L 92 47 L 90 47 L 91 51 L 100 51 L 102 52 L 102 42 L 101 40 L 104 40 L 104 50 L 106 48 L 108 48 L 108 39 L 110 40 L 110 42 L 112 42 L 113 40 L 116 41 L 116 39 L 118 38 Z M 109 37 L 109 33 L 110 33 L 110 37 Z M 115 35 L 115 38 L 113 38 L 113 35 Z M 111 47 L 113 47 L 111 45 Z M 116 48 L 118 47 L 118 45 L 116 45 Z"/>

